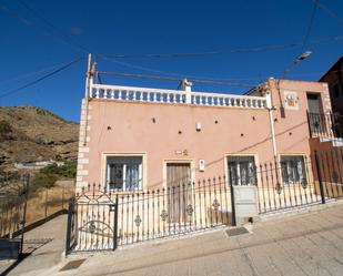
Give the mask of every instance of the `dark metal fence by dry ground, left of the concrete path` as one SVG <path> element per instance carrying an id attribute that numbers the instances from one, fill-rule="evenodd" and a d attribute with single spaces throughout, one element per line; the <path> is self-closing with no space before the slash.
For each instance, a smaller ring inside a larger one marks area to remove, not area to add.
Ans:
<path id="1" fill-rule="evenodd" d="M 73 185 L 48 188 L 30 183 L 29 175 L 0 175 L 0 258 L 17 258 L 24 232 L 67 213 L 74 195 Z"/>

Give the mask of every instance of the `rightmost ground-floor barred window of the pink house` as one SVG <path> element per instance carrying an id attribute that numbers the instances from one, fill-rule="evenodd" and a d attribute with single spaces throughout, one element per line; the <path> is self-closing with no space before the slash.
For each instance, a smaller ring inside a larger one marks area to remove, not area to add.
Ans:
<path id="1" fill-rule="evenodd" d="M 306 184 L 304 157 L 302 155 L 282 155 L 281 171 L 284 184 Z"/>

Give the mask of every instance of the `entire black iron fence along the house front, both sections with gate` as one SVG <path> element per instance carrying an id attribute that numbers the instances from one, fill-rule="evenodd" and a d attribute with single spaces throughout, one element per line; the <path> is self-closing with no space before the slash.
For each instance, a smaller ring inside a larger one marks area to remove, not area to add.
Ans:
<path id="1" fill-rule="evenodd" d="M 244 171 L 245 170 L 245 171 Z M 324 204 L 343 195 L 343 152 L 287 155 L 259 166 L 229 168 L 229 177 L 135 192 L 88 185 L 69 205 L 67 254 L 235 225 L 235 190 L 254 186 L 260 215 Z"/>

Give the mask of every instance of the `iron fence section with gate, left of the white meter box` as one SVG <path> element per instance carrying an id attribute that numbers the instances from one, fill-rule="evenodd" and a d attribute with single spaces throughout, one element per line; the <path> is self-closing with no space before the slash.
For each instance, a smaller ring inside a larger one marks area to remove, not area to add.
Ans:
<path id="1" fill-rule="evenodd" d="M 231 188 L 225 177 L 125 194 L 89 185 L 69 205 L 67 253 L 235 224 Z"/>

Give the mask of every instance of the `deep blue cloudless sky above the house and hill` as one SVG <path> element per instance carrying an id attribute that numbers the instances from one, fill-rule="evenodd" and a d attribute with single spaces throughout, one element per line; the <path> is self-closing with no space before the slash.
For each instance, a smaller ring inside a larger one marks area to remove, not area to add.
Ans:
<path id="1" fill-rule="evenodd" d="M 79 121 L 85 59 L 18 93 L 3 98 L 1 94 L 75 58 L 85 58 L 85 52 L 74 44 L 92 53 L 130 54 L 206 52 L 302 42 L 313 4 L 313 0 L 0 0 L 0 105 L 38 105 L 68 120 Z M 309 41 L 343 35 L 343 1 L 321 0 L 320 4 Z M 343 40 L 306 45 L 305 50 L 311 50 L 312 55 L 300 63 L 287 79 L 316 81 L 342 55 L 342 49 Z M 117 59 L 129 65 L 99 59 L 98 69 L 238 79 L 232 81 L 254 85 L 269 76 L 282 75 L 300 51 L 301 45 L 196 58 Z M 129 78 L 103 78 L 103 81 L 168 89 L 178 86 L 176 81 Z M 246 91 L 245 88 L 200 83 L 195 83 L 193 90 Z"/>

